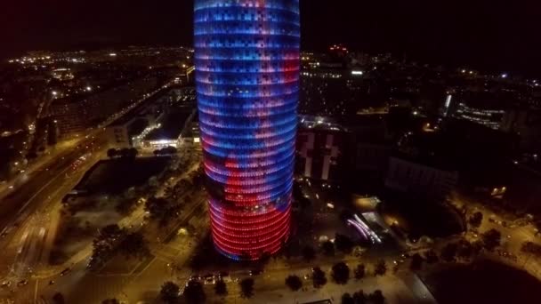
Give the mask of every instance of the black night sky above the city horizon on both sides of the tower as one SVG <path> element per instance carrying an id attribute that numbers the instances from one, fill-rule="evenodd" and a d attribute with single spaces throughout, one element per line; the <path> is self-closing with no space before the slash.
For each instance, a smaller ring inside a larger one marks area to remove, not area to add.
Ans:
<path id="1" fill-rule="evenodd" d="M 500 0 L 301 0 L 303 49 L 366 52 L 541 74 L 541 3 Z M 0 56 L 32 49 L 190 45 L 193 0 L 7 0 Z"/>

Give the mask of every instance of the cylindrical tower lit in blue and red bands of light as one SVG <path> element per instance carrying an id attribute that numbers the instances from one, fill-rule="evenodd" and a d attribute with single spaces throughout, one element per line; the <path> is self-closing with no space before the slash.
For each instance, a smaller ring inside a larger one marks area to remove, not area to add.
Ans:
<path id="1" fill-rule="evenodd" d="M 290 229 L 299 0 L 196 0 L 199 124 L 214 246 L 278 252 Z"/>

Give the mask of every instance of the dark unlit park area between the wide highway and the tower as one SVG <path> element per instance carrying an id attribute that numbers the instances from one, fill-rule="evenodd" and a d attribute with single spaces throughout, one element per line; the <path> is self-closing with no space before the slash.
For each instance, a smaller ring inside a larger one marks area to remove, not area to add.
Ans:
<path id="1" fill-rule="evenodd" d="M 94 164 L 63 200 L 50 263 L 66 262 L 92 243 L 96 231 L 142 209 L 143 197 L 157 187 L 169 164 L 170 157 L 112 158 Z M 141 221 L 144 213 L 138 214 Z"/>

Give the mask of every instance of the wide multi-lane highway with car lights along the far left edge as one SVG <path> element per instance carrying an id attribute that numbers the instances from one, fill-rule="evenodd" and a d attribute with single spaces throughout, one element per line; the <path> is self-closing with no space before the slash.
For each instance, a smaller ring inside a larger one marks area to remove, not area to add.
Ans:
<path id="1" fill-rule="evenodd" d="M 89 140 L 93 139 L 89 137 Z M 88 147 L 82 146 L 65 154 L 61 161 L 36 172 L 23 188 L 8 196 L 9 201 L 3 200 L 3 204 L 7 203 L 12 208 L 4 208 L 9 212 L 2 217 L 5 234 L 0 239 L 0 278 L 2 282 L 12 282 L 12 287 L 0 290 L 0 299 L 11 292 L 18 292 L 17 282 L 28 279 L 47 265 L 60 216 L 61 199 L 85 171 L 105 155 L 107 145 L 102 140 L 95 140 Z M 88 156 L 85 162 L 77 168 L 70 166 L 85 154 Z"/>

